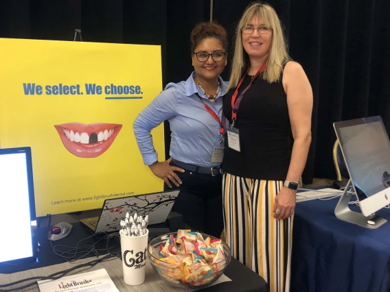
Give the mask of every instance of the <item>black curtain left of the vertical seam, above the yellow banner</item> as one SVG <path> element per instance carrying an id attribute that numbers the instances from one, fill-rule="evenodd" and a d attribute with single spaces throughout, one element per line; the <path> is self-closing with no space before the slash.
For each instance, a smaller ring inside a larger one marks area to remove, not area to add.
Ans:
<path id="1" fill-rule="evenodd" d="M 187 79 L 193 69 L 190 32 L 196 23 L 208 20 L 204 3 L 209 1 L 2 0 L 0 38 L 73 41 L 75 29 L 81 29 L 87 42 L 161 45 L 164 88 L 168 82 Z M 165 156 L 169 146 L 165 122 Z"/>

